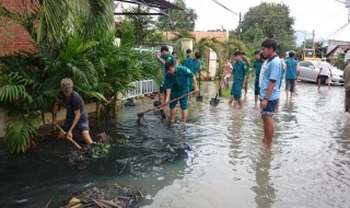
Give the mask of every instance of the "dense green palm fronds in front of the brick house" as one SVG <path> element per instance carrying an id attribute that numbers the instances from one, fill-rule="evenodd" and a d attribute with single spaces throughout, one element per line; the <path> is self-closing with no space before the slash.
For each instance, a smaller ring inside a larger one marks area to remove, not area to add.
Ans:
<path id="1" fill-rule="evenodd" d="M 84 99 L 106 102 L 130 82 L 156 74 L 152 55 L 132 50 L 132 30 L 124 28 L 121 46 L 114 45 L 109 0 L 39 3 L 32 5 L 35 13 L 0 7 L 3 16 L 27 30 L 37 48 L 0 60 L 0 105 L 11 114 L 4 142 L 11 152 L 24 152 L 33 143 L 40 115 L 52 111 L 62 78 L 73 78 Z"/>

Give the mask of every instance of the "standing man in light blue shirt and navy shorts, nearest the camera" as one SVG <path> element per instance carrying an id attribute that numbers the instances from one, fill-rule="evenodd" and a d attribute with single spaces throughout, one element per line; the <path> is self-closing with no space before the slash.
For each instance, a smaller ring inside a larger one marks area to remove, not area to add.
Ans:
<path id="1" fill-rule="evenodd" d="M 281 60 L 276 54 L 276 42 L 273 39 L 262 42 L 261 51 L 268 58 L 260 85 L 260 108 L 264 122 L 262 143 L 269 148 L 272 145 L 275 132 L 272 116 L 276 104 L 280 99 Z"/>

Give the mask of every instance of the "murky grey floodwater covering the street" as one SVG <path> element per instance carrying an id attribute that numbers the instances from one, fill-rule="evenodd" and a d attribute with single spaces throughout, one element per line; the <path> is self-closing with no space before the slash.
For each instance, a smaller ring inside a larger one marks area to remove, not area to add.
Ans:
<path id="1" fill-rule="evenodd" d="M 47 136 L 26 154 L 0 149 L 0 207 L 44 207 L 52 196 L 113 183 L 140 186 L 140 207 L 350 207 L 350 115 L 343 113 L 343 89 L 298 83 L 298 95 L 281 92 L 271 149 L 260 143 L 262 124 L 253 86 L 242 111 L 226 100 L 209 106 L 215 94 L 203 84 L 205 101 L 189 107 L 188 126 L 170 128 L 149 113 L 150 104 L 126 107 L 116 120 L 92 124 L 92 135 L 129 136 L 108 157 L 69 163 L 67 145 Z M 178 119 L 180 115 L 178 113 Z M 79 137 L 77 137 L 78 139 Z M 159 143 L 188 142 L 191 151 L 159 161 Z M 125 165 L 126 164 L 126 165 Z M 121 169 L 125 170 L 121 172 Z"/>

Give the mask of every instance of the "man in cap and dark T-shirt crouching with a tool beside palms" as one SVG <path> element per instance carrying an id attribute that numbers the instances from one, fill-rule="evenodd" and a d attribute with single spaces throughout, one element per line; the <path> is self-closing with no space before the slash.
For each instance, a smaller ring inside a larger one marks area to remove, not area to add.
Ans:
<path id="1" fill-rule="evenodd" d="M 81 131 L 86 143 L 93 143 L 90 137 L 89 116 L 86 108 L 81 96 L 73 91 L 73 81 L 69 78 L 61 80 L 60 96 L 56 99 L 54 104 L 52 124 L 57 124 L 57 112 L 59 105 L 62 104 L 67 108 L 66 120 L 62 125 L 62 129 L 67 132 L 68 137 L 73 138 L 73 129 Z M 63 132 L 59 132 L 58 138 L 65 138 Z"/>

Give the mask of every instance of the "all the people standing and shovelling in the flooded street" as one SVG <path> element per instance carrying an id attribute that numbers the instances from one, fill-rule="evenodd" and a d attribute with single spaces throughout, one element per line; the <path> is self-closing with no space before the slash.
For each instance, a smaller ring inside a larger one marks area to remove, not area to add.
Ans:
<path id="1" fill-rule="evenodd" d="M 287 60 L 282 61 L 277 51 L 277 44 L 269 38 L 262 42 L 261 49 L 255 51 L 255 104 L 260 102 L 260 113 L 264 123 L 264 136 L 261 138 L 265 147 L 271 147 L 275 132 L 273 118 L 275 112 L 278 109 L 280 99 L 280 88 L 285 72 L 285 92 L 287 99 L 292 97 L 296 78 L 299 76 L 298 61 L 294 58 L 294 53 L 290 51 Z M 160 62 L 160 71 L 163 76 L 163 82 L 160 86 L 160 101 L 163 104 L 170 104 L 171 124 L 175 123 L 175 106 L 179 101 L 182 108 L 182 123 L 185 125 L 187 119 L 188 101 L 191 99 L 191 93 L 198 92 L 196 73 L 200 72 L 201 65 L 199 59 L 200 53 L 195 53 L 191 57 L 191 50 L 187 49 L 187 57 L 183 61 L 183 66 L 177 65 L 176 54 L 171 54 L 167 46 L 161 47 L 161 54 L 155 55 Z M 350 62 L 350 61 L 349 61 Z M 224 85 L 229 88 L 230 78 L 233 77 L 231 88 L 230 105 L 233 108 L 243 108 L 242 91 L 247 93 L 247 76 L 249 73 L 249 61 L 243 51 L 234 53 L 234 66 L 230 63 L 229 58 L 225 59 L 223 67 Z M 331 74 L 329 61 L 323 59 L 319 70 L 319 80 L 328 81 L 328 73 Z M 350 63 L 343 70 L 345 88 L 346 88 L 346 112 L 350 109 Z M 319 84 L 319 81 L 318 81 Z M 329 82 L 328 82 L 329 84 Z M 329 86 L 329 85 L 328 85 Z M 319 85 L 318 85 L 319 88 Z M 172 102 L 173 100 L 176 100 Z M 66 122 L 62 129 L 66 135 L 59 134 L 59 138 L 65 136 L 72 137 L 73 129 L 81 131 L 88 147 L 93 143 L 89 132 L 89 117 L 81 96 L 73 91 L 73 82 L 66 78 L 61 80 L 60 96 L 54 105 L 52 123 L 57 124 L 56 114 L 59 105 L 62 104 L 67 108 Z"/>

